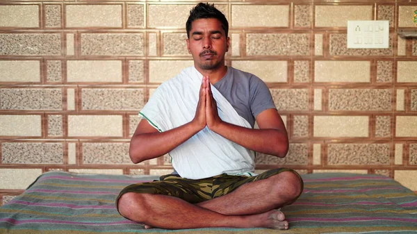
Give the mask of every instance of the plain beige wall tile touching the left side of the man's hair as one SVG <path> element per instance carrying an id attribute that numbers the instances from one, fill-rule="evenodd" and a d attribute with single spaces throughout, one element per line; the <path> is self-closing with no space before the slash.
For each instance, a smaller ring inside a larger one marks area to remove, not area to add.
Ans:
<path id="1" fill-rule="evenodd" d="M 151 28 L 186 28 L 186 19 L 194 5 L 149 4 L 148 26 Z"/>

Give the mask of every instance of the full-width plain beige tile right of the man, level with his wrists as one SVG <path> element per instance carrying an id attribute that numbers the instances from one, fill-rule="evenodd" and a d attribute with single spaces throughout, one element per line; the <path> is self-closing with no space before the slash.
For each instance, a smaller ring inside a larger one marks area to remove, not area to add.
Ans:
<path id="1" fill-rule="evenodd" d="M 315 116 L 314 137 L 368 137 L 368 116 Z"/>

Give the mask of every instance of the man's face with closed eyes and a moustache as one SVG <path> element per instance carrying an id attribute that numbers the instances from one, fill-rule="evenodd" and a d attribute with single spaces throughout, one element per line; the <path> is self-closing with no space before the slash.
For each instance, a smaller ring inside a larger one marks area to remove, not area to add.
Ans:
<path id="1" fill-rule="evenodd" d="M 229 37 L 226 37 L 218 19 L 197 19 L 191 24 L 187 49 L 193 55 L 196 68 L 217 69 L 224 66 Z"/>

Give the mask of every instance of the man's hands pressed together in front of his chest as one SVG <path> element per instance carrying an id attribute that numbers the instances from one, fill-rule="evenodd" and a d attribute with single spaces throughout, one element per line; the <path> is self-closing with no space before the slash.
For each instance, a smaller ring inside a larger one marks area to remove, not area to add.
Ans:
<path id="1" fill-rule="evenodd" d="M 202 78 L 197 110 L 195 110 L 195 117 L 192 122 L 194 122 L 200 130 L 207 126 L 211 131 L 215 131 L 215 128 L 222 124 L 222 119 L 220 119 L 218 115 L 217 103 L 211 92 L 210 78 L 208 78 L 208 76 L 203 76 Z"/>

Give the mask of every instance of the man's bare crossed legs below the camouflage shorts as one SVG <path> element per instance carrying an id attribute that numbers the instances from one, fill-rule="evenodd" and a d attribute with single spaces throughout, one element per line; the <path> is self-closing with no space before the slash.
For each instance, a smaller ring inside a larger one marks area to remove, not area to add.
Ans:
<path id="1" fill-rule="evenodd" d="M 302 181 L 298 175 L 281 172 L 197 204 L 166 195 L 128 192 L 120 197 L 117 205 L 127 219 L 158 228 L 287 229 L 284 214 L 274 209 L 292 203 L 301 192 Z"/>

